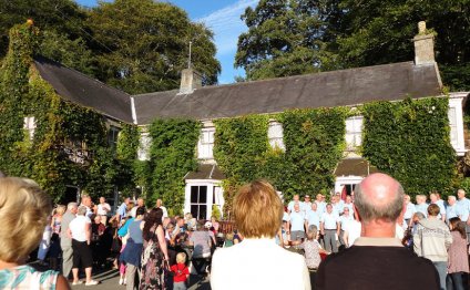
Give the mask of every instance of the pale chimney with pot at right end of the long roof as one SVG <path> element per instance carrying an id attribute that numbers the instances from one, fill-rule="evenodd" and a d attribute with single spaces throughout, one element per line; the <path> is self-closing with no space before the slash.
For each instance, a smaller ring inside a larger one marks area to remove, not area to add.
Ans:
<path id="1" fill-rule="evenodd" d="M 436 63 L 435 59 L 435 35 L 426 30 L 426 22 L 419 21 L 418 35 L 413 38 L 415 42 L 415 64 Z"/>

